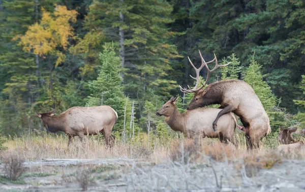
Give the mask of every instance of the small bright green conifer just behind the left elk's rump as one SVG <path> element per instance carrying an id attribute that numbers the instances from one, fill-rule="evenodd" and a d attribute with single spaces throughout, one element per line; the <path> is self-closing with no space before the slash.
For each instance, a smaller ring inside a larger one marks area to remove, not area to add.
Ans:
<path id="1" fill-rule="evenodd" d="M 119 75 L 121 67 L 120 58 L 115 55 L 113 47 L 104 47 L 100 53 L 101 67 L 97 80 L 89 82 L 89 90 L 92 92 L 87 98 L 86 106 L 109 105 L 118 114 L 115 131 L 122 133 L 124 128 L 124 114 L 126 109 L 125 126 L 128 127 L 131 116 L 131 102 L 122 91 L 122 78 Z"/>

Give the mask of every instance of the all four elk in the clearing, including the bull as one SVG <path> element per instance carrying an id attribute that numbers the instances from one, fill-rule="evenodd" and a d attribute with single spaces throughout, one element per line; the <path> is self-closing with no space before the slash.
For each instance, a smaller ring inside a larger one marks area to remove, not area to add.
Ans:
<path id="1" fill-rule="evenodd" d="M 219 138 L 221 142 L 234 144 L 234 130 L 240 129 L 246 137 L 247 148 L 258 148 L 262 138 L 271 132 L 269 118 L 264 107 L 255 94 L 252 87 L 241 80 L 223 80 L 207 85 L 210 74 L 219 67 L 218 60 L 205 62 L 199 51 L 201 66 L 196 68 L 188 57 L 196 71 L 196 85 L 194 88 L 180 90 L 183 93 L 193 93 L 193 98 L 187 107 L 187 111 L 180 113 L 176 102 L 178 98 L 172 97 L 161 109 L 156 112 L 157 116 L 164 116 L 165 122 L 174 131 L 184 133 L 188 138 L 208 137 Z M 213 69 L 209 69 L 209 63 L 216 63 Z M 205 82 L 199 79 L 200 71 L 206 67 L 207 75 Z M 207 85 L 207 86 L 206 86 Z M 206 86 L 206 87 L 205 87 Z M 219 108 L 205 107 L 211 104 L 220 104 Z M 243 125 L 237 125 L 238 116 Z M 116 111 L 110 106 L 72 107 L 67 111 L 55 116 L 55 110 L 47 113 L 38 113 L 42 125 L 49 132 L 63 131 L 69 136 L 68 146 L 74 136 L 80 141 L 84 135 L 96 135 L 103 133 L 107 146 L 113 146 L 114 138 L 111 136 L 112 128 L 117 120 Z M 280 129 L 279 141 L 283 144 L 278 147 L 279 151 L 298 150 L 304 147 L 303 142 L 296 142 L 291 134 L 296 127 Z M 305 134 L 305 129 L 303 130 Z"/>

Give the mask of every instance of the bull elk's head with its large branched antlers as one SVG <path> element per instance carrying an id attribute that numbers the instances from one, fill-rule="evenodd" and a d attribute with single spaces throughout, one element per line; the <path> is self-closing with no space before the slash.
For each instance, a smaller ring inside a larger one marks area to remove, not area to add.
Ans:
<path id="1" fill-rule="evenodd" d="M 188 110 L 192 110 L 194 108 L 205 106 L 206 105 L 205 103 L 211 103 L 211 104 L 213 104 L 214 102 L 217 103 L 217 101 L 220 99 L 219 98 L 220 95 L 217 94 L 217 92 L 215 90 L 209 90 L 209 87 L 205 88 L 204 90 L 202 90 L 202 88 L 204 88 L 204 86 L 207 84 L 207 82 L 210 78 L 210 74 L 213 71 L 215 71 L 219 67 L 224 67 L 224 66 L 227 66 L 228 64 L 230 64 L 230 63 L 227 63 L 227 64 L 224 64 L 224 65 L 218 65 L 218 61 L 217 61 L 217 58 L 216 58 L 215 54 L 214 54 L 214 59 L 211 60 L 211 61 L 208 61 L 208 62 L 204 61 L 200 51 L 199 51 L 199 55 L 200 55 L 200 58 L 201 58 L 201 66 L 199 68 L 196 68 L 195 65 L 193 64 L 193 62 L 191 61 L 191 59 L 188 57 L 191 65 L 193 66 L 193 68 L 196 71 L 196 78 L 194 78 L 192 75 L 190 75 L 191 78 L 196 80 L 195 87 L 192 89 L 192 88 L 190 88 L 190 86 L 188 86 L 189 89 L 183 89 L 181 86 L 179 86 L 181 92 L 183 92 L 183 93 L 194 93 L 194 97 L 193 97 L 193 99 L 191 100 L 191 102 L 188 106 Z M 208 68 L 207 64 L 211 63 L 211 62 L 214 62 L 214 61 L 216 62 L 216 65 L 213 69 L 210 70 Z M 204 66 L 206 67 L 207 75 L 206 75 L 205 82 L 202 83 L 199 79 L 199 73 Z M 200 83 L 201 83 L 201 86 L 198 88 Z"/>

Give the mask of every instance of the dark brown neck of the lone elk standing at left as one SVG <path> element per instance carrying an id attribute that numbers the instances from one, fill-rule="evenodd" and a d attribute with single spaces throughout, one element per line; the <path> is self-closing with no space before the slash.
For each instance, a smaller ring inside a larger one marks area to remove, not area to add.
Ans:
<path id="1" fill-rule="evenodd" d="M 66 123 L 64 118 L 60 115 L 54 117 L 49 117 L 49 116 L 44 117 L 43 124 L 47 124 L 48 130 L 52 133 L 55 133 L 57 131 L 65 132 Z"/>

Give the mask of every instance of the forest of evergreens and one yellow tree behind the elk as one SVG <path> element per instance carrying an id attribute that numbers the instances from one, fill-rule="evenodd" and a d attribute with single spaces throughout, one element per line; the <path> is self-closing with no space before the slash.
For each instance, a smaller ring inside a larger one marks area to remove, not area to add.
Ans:
<path id="1" fill-rule="evenodd" d="M 272 132 L 305 125 L 305 3 L 298 0 L 0 0 L 0 130 L 43 134 L 35 111 L 110 105 L 129 139 L 170 128 L 155 112 L 185 110 L 201 51 L 228 67 L 208 83 L 248 82 Z M 213 64 L 211 64 L 213 65 Z M 212 66 L 211 66 L 212 67 Z M 203 79 L 206 70 L 201 71 Z"/>

